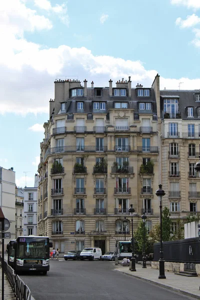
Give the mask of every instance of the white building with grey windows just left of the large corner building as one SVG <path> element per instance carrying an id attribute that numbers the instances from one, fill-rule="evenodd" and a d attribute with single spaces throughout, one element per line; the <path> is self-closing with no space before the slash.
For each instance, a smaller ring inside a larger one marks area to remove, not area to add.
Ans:
<path id="1" fill-rule="evenodd" d="M 24 235 L 37 235 L 37 186 L 39 176 L 34 176 L 34 187 L 24 187 Z"/>

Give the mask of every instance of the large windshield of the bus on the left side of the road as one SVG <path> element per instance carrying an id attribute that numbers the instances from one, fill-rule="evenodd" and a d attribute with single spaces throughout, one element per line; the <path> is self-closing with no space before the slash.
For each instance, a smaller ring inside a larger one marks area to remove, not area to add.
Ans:
<path id="1" fill-rule="evenodd" d="M 16 258 L 48 258 L 47 243 L 47 238 L 19 237 Z"/>

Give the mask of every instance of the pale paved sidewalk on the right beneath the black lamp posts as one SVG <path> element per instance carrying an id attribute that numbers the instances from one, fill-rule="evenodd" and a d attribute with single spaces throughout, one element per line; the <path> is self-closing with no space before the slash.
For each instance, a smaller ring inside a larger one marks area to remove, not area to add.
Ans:
<path id="1" fill-rule="evenodd" d="M 175 275 L 172 272 L 165 271 L 166 279 L 158 279 L 159 270 L 150 266 L 142 268 L 141 264 L 136 263 L 136 272 L 131 272 L 128 266 L 116 265 L 115 270 L 142 280 L 157 284 L 159 286 L 181 292 L 185 295 L 200 299 L 200 280 L 199 277 L 186 277 Z"/>

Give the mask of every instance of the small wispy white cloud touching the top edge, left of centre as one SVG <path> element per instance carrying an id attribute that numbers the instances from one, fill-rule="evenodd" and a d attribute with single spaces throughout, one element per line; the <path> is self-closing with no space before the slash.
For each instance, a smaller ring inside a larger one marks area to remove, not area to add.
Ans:
<path id="1" fill-rule="evenodd" d="M 34 0 L 34 4 L 40 9 L 56 13 L 63 24 L 69 25 L 69 16 L 66 13 L 66 3 L 62 3 L 61 5 L 55 4 L 55 6 L 52 6 L 48 0 Z"/>

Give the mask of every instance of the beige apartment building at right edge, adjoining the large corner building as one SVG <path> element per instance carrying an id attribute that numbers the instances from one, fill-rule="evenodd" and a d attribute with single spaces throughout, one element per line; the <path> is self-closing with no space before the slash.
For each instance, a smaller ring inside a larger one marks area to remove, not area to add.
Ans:
<path id="1" fill-rule="evenodd" d="M 169 207 L 172 230 L 177 218 L 199 216 L 200 90 L 160 90 L 163 205 Z"/>

